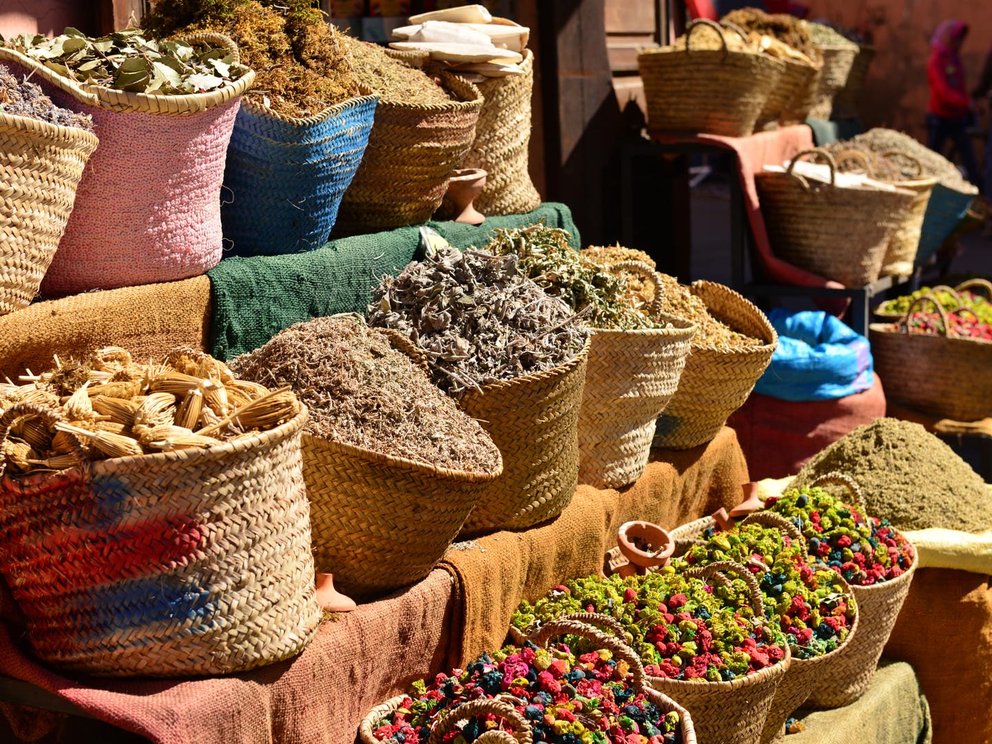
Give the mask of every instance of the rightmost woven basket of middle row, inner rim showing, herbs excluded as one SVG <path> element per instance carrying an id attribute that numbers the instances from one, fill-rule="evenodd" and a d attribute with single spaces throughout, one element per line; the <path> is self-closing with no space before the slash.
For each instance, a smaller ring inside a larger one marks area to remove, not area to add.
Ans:
<path id="1" fill-rule="evenodd" d="M 751 395 L 779 344 L 765 313 L 730 288 L 700 280 L 689 290 L 717 319 L 764 343 L 750 348 L 692 344 L 679 389 L 655 428 L 654 445 L 668 449 L 689 449 L 719 434 Z"/>

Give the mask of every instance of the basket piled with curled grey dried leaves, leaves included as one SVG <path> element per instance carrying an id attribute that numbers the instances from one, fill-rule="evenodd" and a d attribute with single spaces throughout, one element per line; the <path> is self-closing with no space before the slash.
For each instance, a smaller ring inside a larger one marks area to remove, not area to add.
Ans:
<path id="1" fill-rule="evenodd" d="M 465 534 L 558 516 L 578 482 L 578 415 L 589 330 L 527 278 L 516 255 L 430 249 L 373 295 L 369 324 L 398 330 L 434 384 L 482 424 L 503 455 Z"/>

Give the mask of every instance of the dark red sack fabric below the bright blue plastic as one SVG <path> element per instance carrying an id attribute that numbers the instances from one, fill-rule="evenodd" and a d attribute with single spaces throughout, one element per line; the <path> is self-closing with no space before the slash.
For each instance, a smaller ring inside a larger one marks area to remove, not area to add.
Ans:
<path id="1" fill-rule="evenodd" d="M 752 393 L 727 426 L 737 432 L 753 480 L 795 475 L 816 452 L 885 416 L 885 391 L 875 384 L 836 401 L 794 403 Z"/>

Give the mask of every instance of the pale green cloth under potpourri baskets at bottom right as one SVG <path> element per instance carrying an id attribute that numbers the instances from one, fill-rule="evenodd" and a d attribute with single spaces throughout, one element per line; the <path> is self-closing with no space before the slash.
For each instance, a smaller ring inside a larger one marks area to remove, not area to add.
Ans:
<path id="1" fill-rule="evenodd" d="M 806 730 L 785 744 L 930 744 L 930 706 L 916 673 L 905 662 L 879 662 L 868 691 L 836 710 L 797 716 Z"/>

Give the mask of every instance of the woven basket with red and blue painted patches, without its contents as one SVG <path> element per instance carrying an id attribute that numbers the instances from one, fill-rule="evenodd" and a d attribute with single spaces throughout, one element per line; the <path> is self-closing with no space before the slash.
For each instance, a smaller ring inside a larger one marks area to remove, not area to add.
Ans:
<path id="1" fill-rule="evenodd" d="M 20 404 L 0 420 L 60 417 Z M 77 673 L 186 677 L 288 659 L 320 620 L 300 433 L 0 477 L 0 572 L 35 655 Z"/>

